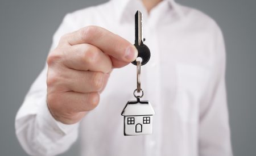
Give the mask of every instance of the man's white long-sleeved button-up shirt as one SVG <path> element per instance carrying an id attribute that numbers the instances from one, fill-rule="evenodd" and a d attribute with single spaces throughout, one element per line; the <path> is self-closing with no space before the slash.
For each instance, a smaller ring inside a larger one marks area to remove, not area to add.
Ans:
<path id="1" fill-rule="evenodd" d="M 74 125 L 57 122 L 47 109 L 46 66 L 16 115 L 16 136 L 28 154 L 63 153 L 79 137 L 83 156 L 232 155 L 224 40 L 216 22 L 202 12 L 166 0 L 148 15 L 141 1 L 113 0 L 67 14 L 51 49 L 60 36 L 89 25 L 134 43 L 137 10 L 143 14 L 144 44 L 151 50 L 142 66 L 142 100 L 155 110 L 153 134 L 123 136 L 121 112 L 135 100 L 136 66 L 115 69 L 98 107 Z"/>

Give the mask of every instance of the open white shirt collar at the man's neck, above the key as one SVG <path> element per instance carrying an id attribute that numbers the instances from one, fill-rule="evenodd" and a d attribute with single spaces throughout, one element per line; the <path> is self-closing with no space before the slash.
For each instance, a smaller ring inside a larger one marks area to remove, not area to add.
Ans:
<path id="1" fill-rule="evenodd" d="M 146 9 L 144 8 L 141 0 L 111 0 L 111 1 L 115 3 L 117 19 L 119 22 L 121 22 L 123 16 L 125 15 L 125 12 L 127 11 L 127 8 L 134 7 L 134 5 L 141 5 L 141 8 L 143 9 L 140 11 L 142 13 L 144 12 L 144 14 L 146 13 Z M 180 6 L 177 5 L 177 3 L 174 0 L 163 0 L 163 1 L 167 1 L 169 8 L 173 9 L 178 16 L 183 16 L 183 13 L 180 10 Z M 160 3 L 163 3 L 163 2 L 160 2 Z M 135 10 L 134 10 L 134 14 L 135 14 Z"/>

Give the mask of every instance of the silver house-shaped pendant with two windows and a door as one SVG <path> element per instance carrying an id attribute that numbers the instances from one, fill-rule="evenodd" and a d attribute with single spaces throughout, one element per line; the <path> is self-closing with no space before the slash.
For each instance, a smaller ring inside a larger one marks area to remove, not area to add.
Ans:
<path id="1" fill-rule="evenodd" d="M 137 101 L 127 102 L 121 113 L 124 118 L 125 136 L 152 134 L 154 114 L 155 111 L 148 101 L 137 98 Z"/>

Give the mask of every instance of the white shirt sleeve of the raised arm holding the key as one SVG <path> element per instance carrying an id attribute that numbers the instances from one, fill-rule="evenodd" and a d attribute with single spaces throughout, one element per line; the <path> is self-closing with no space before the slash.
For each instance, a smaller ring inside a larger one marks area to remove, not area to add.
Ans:
<path id="1" fill-rule="evenodd" d="M 51 50 L 65 33 L 75 30 L 71 15 L 66 15 L 53 36 Z M 30 155 L 56 155 L 66 151 L 78 136 L 79 124 L 65 125 L 56 121 L 46 103 L 47 66 L 32 84 L 15 118 L 16 136 Z"/>

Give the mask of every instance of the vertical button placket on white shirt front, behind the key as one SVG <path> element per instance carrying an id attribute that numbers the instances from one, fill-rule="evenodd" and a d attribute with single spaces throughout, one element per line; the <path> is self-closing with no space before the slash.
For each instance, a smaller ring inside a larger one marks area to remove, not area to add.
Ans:
<path id="1" fill-rule="evenodd" d="M 148 20 L 149 21 L 149 20 Z M 154 117 L 154 125 L 153 125 L 153 134 L 152 136 L 144 137 L 144 151 L 146 155 L 154 156 L 159 153 L 158 146 L 158 138 L 159 138 L 159 128 L 160 128 L 160 115 L 157 114 L 159 112 L 159 104 L 160 102 L 160 61 L 159 61 L 159 49 L 158 49 L 158 41 L 155 32 L 153 23 L 144 24 L 144 33 L 146 41 L 145 43 L 151 50 L 151 58 L 148 61 L 147 65 L 145 65 L 144 75 L 142 77 L 146 77 L 146 86 L 145 90 L 147 91 L 148 100 L 151 101 L 152 107 L 154 107 L 156 115 Z M 142 69 L 143 70 L 143 69 Z"/>

